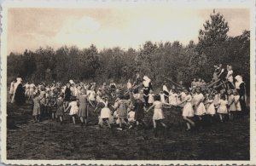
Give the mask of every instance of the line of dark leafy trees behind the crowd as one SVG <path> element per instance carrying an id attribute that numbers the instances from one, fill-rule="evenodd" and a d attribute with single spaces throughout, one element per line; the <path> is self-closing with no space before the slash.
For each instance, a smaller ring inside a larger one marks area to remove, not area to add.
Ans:
<path id="1" fill-rule="evenodd" d="M 117 83 L 126 83 L 140 72 L 148 75 L 155 84 L 162 82 L 160 76 L 164 74 L 174 82 L 183 81 L 189 85 L 194 77 L 211 81 L 213 66 L 222 63 L 233 66 L 234 73 L 241 74 L 249 86 L 250 31 L 245 30 L 236 37 L 229 37 L 228 31 L 224 16 L 213 11 L 199 31 L 198 43 L 147 41 L 140 49 L 116 47 L 99 51 L 92 44 L 86 49 L 63 46 L 25 50 L 23 54 L 10 53 L 7 58 L 8 81 L 19 76 L 35 83 L 54 80 L 65 83 L 69 79 L 97 83 L 113 79 Z"/>

